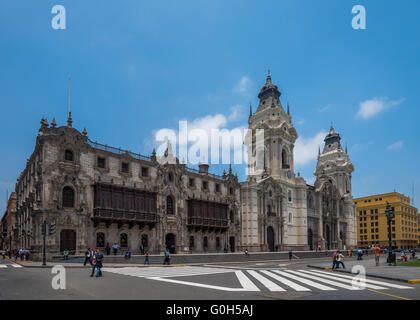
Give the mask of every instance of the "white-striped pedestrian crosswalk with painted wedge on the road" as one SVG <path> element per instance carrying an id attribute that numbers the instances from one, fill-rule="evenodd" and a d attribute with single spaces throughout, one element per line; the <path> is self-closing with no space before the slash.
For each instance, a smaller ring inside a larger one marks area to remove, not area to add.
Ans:
<path id="1" fill-rule="evenodd" d="M 315 269 L 230 269 L 212 267 L 127 267 L 127 268 L 104 268 L 103 271 L 146 278 L 150 280 L 181 284 L 187 286 L 202 287 L 222 291 L 336 291 L 336 290 L 388 290 L 388 289 L 413 289 L 413 287 L 390 283 L 387 281 L 359 279 L 355 275 L 337 274 Z M 211 285 L 211 275 L 232 274 L 231 286 Z M 196 282 L 190 276 L 206 276 L 206 283 Z M 177 278 L 177 279 L 173 279 Z M 235 279 L 237 281 L 235 281 Z M 237 284 L 240 284 L 240 287 Z M 235 286 L 236 285 L 236 286 Z"/>

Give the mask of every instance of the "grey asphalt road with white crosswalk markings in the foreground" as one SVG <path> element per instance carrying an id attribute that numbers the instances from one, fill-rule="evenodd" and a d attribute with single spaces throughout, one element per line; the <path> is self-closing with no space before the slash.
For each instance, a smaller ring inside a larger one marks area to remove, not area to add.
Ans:
<path id="1" fill-rule="evenodd" d="M 65 268 L 63 276 L 0 260 L 0 299 L 420 300 L 420 284 L 368 277 L 362 289 L 352 286 L 351 275 L 311 269 L 308 262 L 105 267 L 96 278 L 90 268 Z M 65 289 L 53 288 L 64 279 Z"/>

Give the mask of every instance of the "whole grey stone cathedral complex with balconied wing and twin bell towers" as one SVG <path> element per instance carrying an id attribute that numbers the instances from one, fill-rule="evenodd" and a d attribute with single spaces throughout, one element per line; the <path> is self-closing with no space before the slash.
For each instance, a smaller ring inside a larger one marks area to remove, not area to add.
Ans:
<path id="1" fill-rule="evenodd" d="M 244 182 L 231 167 L 221 176 L 205 163 L 187 167 L 170 143 L 145 156 L 90 140 L 70 112 L 64 126 L 43 118 L 16 182 L 17 243 L 39 258 L 45 221 L 50 257 L 115 244 L 134 253 L 354 248 L 354 168 L 340 135 L 331 126 L 308 185 L 295 174 L 298 134 L 280 96 L 268 75 L 250 111 Z"/>

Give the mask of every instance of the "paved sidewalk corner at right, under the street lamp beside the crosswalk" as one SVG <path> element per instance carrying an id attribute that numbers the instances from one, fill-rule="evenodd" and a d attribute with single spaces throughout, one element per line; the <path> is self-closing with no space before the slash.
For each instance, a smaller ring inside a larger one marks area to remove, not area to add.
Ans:
<path id="1" fill-rule="evenodd" d="M 343 259 L 346 269 L 336 269 L 337 272 L 352 273 L 353 266 L 363 266 L 366 270 L 366 276 L 377 277 L 389 280 L 397 280 L 409 283 L 420 283 L 420 268 L 419 267 L 403 267 L 403 266 L 389 266 L 386 262 L 387 255 L 383 254 L 379 259 L 379 266 L 376 266 L 375 257 L 364 257 L 363 260 L 357 260 L 356 257 L 345 257 Z M 332 259 L 329 262 L 313 263 L 308 267 L 316 269 L 331 269 Z"/>

